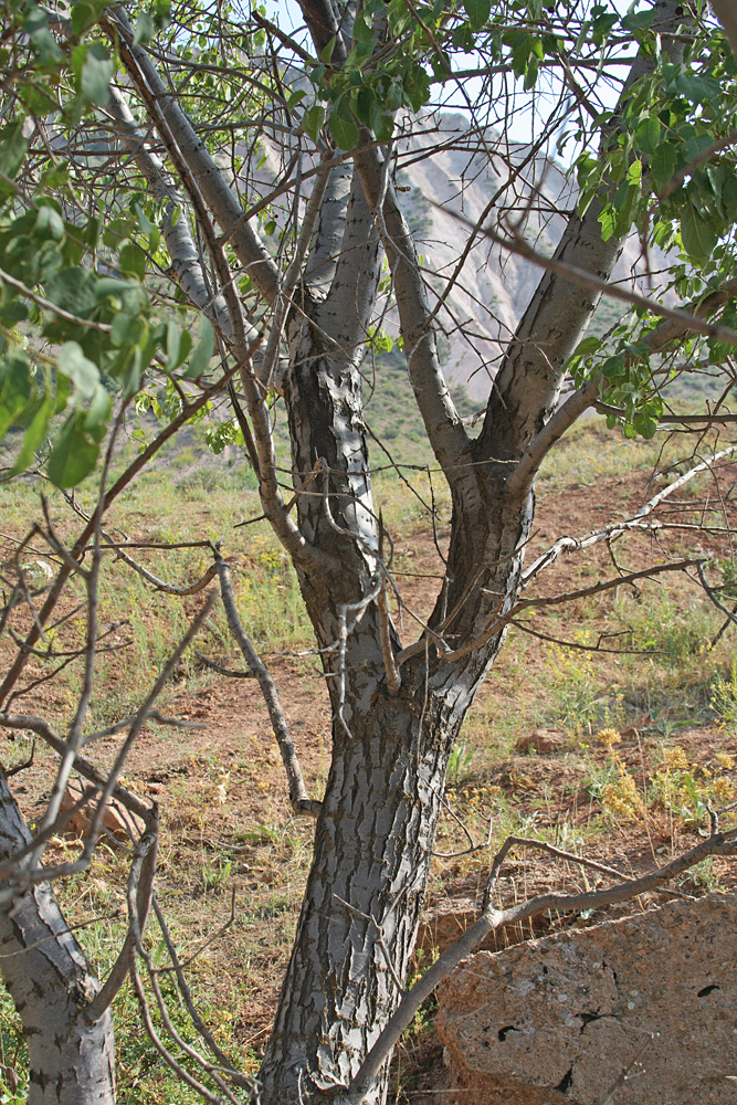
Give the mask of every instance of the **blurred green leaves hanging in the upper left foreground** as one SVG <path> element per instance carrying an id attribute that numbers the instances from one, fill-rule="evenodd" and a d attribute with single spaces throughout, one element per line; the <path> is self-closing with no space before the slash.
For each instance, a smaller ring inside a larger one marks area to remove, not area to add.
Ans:
<path id="1" fill-rule="evenodd" d="M 213 351 L 207 319 L 192 349 L 144 286 L 160 238 L 145 198 L 128 193 L 113 218 L 90 212 L 69 161 L 52 158 L 40 171 L 31 164 L 35 128 L 51 126 L 59 139 L 83 122 L 94 128 L 95 109 L 107 103 L 116 60 L 91 36 L 104 7 L 74 6 L 72 33 L 60 40 L 41 8 L 11 4 L 15 35 L 2 59 L 14 87 L 0 129 L 0 438 L 23 430 L 10 475 L 41 451 L 60 487 L 95 467 L 110 392 L 136 394 L 155 360 L 199 377 Z M 102 165 L 102 150 L 93 161 Z"/>

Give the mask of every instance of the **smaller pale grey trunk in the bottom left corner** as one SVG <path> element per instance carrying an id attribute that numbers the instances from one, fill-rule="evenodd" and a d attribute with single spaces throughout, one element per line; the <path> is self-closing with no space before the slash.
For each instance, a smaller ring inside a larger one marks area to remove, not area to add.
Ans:
<path id="1" fill-rule="evenodd" d="M 0 857 L 31 840 L 0 772 Z M 29 1048 L 29 1105 L 113 1105 L 115 1045 L 107 1010 L 85 1009 L 99 989 L 46 883 L 0 885 L 0 970 Z"/>

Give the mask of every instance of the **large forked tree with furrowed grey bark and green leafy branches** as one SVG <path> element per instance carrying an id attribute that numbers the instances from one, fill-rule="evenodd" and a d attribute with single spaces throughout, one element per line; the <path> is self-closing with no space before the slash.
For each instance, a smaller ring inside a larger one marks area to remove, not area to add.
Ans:
<path id="1" fill-rule="evenodd" d="M 119 428 L 135 397 L 144 407 L 158 402 L 149 381 L 166 377 L 173 396 L 173 417 L 162 414 L 157 442 L 227 389 L 232 417 L 220 440 L 248 453 L 323 657 L 334 725 L 318 807 L 305 793 L 261 671 L 291 799 L 297 811 L 317 812 L 313 866 L 260 1074 L 263 1105 L 383 1099 L 386 1053 L 368 1074 L 362 1064 L 402 998 L 454 740 L 506 628 L 531 601 L 520 598 L 523 587 L 544 566 L 524 569 L 544 457 L 598 403 L 628 435 L 676 424 L 663 376 L 673 365 L 680 371 L 683 357 L 728 360 L 737 338 L 737 65 L 704 12 L 676 0 L 625 17 L 572 0 L 299 7 L 309 44 L 255 9 L 192 3 L 173 19 L 162 3 L 123 10 L 80 0 L 67 21 L 56 6 L 10 3 L 11 95 L 0 136 L 0 428 L 25 427 L 13 472 L 39 454 L 50 480 L 73 487 L 95 469 L 110 419 Z M 459 78 L 465 54 L 474 71 Z M 31 78 L 21 64 L 29 60 Z M 463 97 L 472 78 L 482 93 L 471 134 L 482 157 L 504 161 L 501 194 L 514 220 L 494 221 L 497 196 L 474 224 L 459 223 L 457 271 L 433 302 L 396 186 L 396 157 L 413 113 L 432 107 L 435 90 Z M 617 91 L 615 105 L 600 99 L 604 86 Z M 529 150 L 509 149 L 493 127 L 514 108 L 502 97 L 520 88 L 523 106 L 547 88 L 548 120 Z M 545 200 L 536 158 L 566 119 L 581 146 L 578 196 L 549 256 L 524 231 L 535 225 L 536 198 L 560 215 Z M 633 230 L 645 251 L 666 251 L 671 297 L 620 288 L 630 315 L 606 339 L 586 337 L 602 292 L 618 292 L 611 278 Z M 473 436 L 443 379 L 440 305 L 474 245 L 487 240 L 522 253 L 541 276 Z M 681 306 L 664 305 L 674 294 Z M 182 302 L 201 313 L 197 344 L 177 313 Z M 377 328 L 387 311 L 396 313 L 453 503 L 438 601 L 409 644 L 388 612 L 389 535 L 372 505 L 362 418 L 364 361 L 383 340 Z M 29 323 L 50 348 L 24 348 L 13 328 L 22 333 Z M 566 379 L 573 390 L 560 404 Z M 288 502 L 274 443 L 277 394 L 291 444 Z M 713 421 L 702 415 L 699 424 Z M 103 462 L 97 511 L 64 554 L 0 688 L 3 724 L 21 724 L 9 705 L 13 688 L 91 547 L 85 579 L 94 596 L 104 512 L 152 449 L 112 485 Z M 109 461 L 110 445 L 105 455 Z M 53 538 L 51 526 L 44 533 Z M 227 564 L 214 548 L 213 557 L 208 578 L 218 571 L 231 625 L 257 667 L 228 606 Z M 95 633 L 92 627 L 84 652 L 90 667 Z M 149 715 L 154 701 L 152 692 Z M 57 792 L 78 762 L 83 720 L 81 704 L 66 739 L 56 738 L 62 766 L 42 832 L 55 823 Z M 99 818 L 115 785 L 113 774 L 101 787 Z M 21 839 L 18 827 L 7 859 Z M 94 846 L 95 833 L 91 840 Z M 710 846 L 731 843 L 715 833 Z M 24 876 L 15 872 L 6 918 L 44 877 L 38 864 Z M 34 901 L 39 920 L 45 905 L 38 894 Z M 78 956 L 75 962 L 87 985 L 86 967 Z M 66 1017 L 77 1022 L 73 1011 Z M 109 1029 L 93 1021 L 106 1055 Z M 53 1064 L 45 1056 L 33 1063 L 42 1077 L 32 1099 L 56 1099 Z M 74 1065 L 61 1063 L 60 1101 L 112 1099 L 109 1075 L 103 1090 L 99 1080 L 84 1094 L 70 1090 Z"/>

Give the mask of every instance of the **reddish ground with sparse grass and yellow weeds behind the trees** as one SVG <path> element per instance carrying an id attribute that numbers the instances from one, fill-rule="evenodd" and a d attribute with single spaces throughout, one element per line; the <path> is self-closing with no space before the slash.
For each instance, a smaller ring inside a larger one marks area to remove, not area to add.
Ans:
<path id="1" fill-rule="evenodd" d="M 203 464 L 197 428 L 189 433 L 189 440 L 159 456 L 129 488 L 114 507 L 108 528 L 139 541 L 223 539 L 243 623 L 270 663 L 308 788 L 319 796 L 328 767 L 329 708 L 294 572 L 263 523 L 233 528 L 259 514 L 253 481 L 242 461 L 225 454 L 217 464 Z M 135 448 L 135 442 L 128 446 Z M 661 450 L 660 444 L 622 442 L 593 420 L 575 430 L 538 482 L 529 559 L 561 534 L 582 535 L 634 513 L 663 485 L 656 473 L 680 455 L 675 443 Z M 414 454 L 413 460 L 422 456 Z M 662 517 L 682 527 L 698 520 L 724 527 L 734 520 L 737 470 L 725 467 L 717 475 L 718 490 L 706 477 L 694 481 Z M 389 473 L 377 476 L 375 493 L 396 541 L 394 568 L 406 600 L 427 613 L 438 586 L 434 537 L 442 548 L 450 503 L 436 474 L 413 471 L 408 476 L 417 494 Z M 38 511 L 39 491 L 28 480 L 3 488 L 3 557 Z M 92 502 L 90 493 L 83 490 L 80 502 Z M 57 533 L 70 540 L 78 520 L 57 494 L 51 494 L 49 503 Z M 561 558 L 535 585 L 535 593 L 552 596 L 611 575 L 612 557 L 625 570 L 636 570 L 695 549 L 719 558 L 725 579 L 733 578 L 728 535 L 680 528 L 657 540 L 640 535 L 611 550 L 598 546 Z M 149 570 L 176 582 L 197 578 L 208 564 L 202 549 L 141 551 L 139 558 Z M 50 561 L 38 540 L 24 562 L 43 578 Z M 80 592 L 70 596 L 66 610 L 81 598 Z M 101 622 L 110 628 L 108 641 L 116 651 L 101 657 L 91 729 L 109 725 L 141 702 L 198 602 L 196 597 L 182 600 L 154 591 L 120 562 L 105 562 Z M 513 628 L 451 761 L 451 812 L 442 821 L 438 851 L 463 850 L 466 833 L 484 840 L 489 822 L 492 850 L 509 832 L 523 833 L 617 862 L 628 871 L 662 862 L 693 843 L 704 831 L 707 807 L 728 804 L 736 797 L 734 630 L 716 648 L 709 646 L 723 621 L 693 581 L 665 575 L 565 608 L 543 608 Z M 83 629 L 77 612 L 60 627 L 57 648 L 78 643 Z M 403 632 L 409 641 L 407 621 Z M 589 651 L 598 642 L 612 651 Z M 220 613 L 211 618 L 197 649 L 227 667 L 241 667 Z M 34 659 L 29 673 L 40 677 L 48 666 Z M 44 713 L 62 727 L 80 686 L 81 673 L 70 665 L 21 701 L 29 712 Z M 253 1072 L 294 933 L 309 863 L 310 825 L 291 814 L 276 746 L 251 681 L 219 676 L 190 652 L 160 708 L 203 727 L 149 726 L 129 760 L 126 782 L 161 803 L 157 893 L 179 955 L 189 960 L 198 1008 L 241 1069 Z M 523 750 L 520 738 L 541 728 L 552 730 L 554 750 Z M 6 762 L 21 761 L 29 746 L 24 735 L 7 740 Z M 115 748 L 113 738 L 96 743 L 91 758 L 104 767 Z M 15 780 L 31 822 L 52 768 L 52 757 L 38 750 L 33 766 Z M 52 855 L 73 854 L 76 846 L 73 836 L 60 838 Z M 431 895 L 435 901 L 452 898 L 453 887 L 463 880 L 481 884 L 489 855 L 439 857 Z M 101 975 L 119 946 L 126 871 L 126 856 L 104 844 L 88 875 L 60 887 L 69 918 L 84 925 L 80 939 Z M 578 885 L 580 877 L 567 865 L 520 856 L 510 867 L 505 895 L 515 901 L 561 882 Z M 702 893 L 734 882 L 726 864 L 710 863 L 684 880 L 681 890 Z M 547 920 L 552 928 L 569 923 Z M 208 944 L 221 928 L 218 939 Z M 148 941 L 155 964 L 165 966 L 164 941 L 154 924 Z M 432 955 L 425 941 L 423 962 Z M 170 988 L 169 976 L 161 978 Z M 171 1006 L 180 1031 L 193 1039 L 185 1012 L 176 1000 Z M 115 1017 L 120 1102 L 197 1099 L 168 1075 L 144 1040 L 129 989 L 118 998 Z M 397 1099 L 423 1099 L 413 1086 L 431 1049 L 428 1015 L 417 1028 L 398 1060 Z M 22 1051 L 14 1014 L 4 1002 L 0 1080 L 4 1070 L 8 1101 L 14 1099 L 12 1071 L 22 1070 Z"/>

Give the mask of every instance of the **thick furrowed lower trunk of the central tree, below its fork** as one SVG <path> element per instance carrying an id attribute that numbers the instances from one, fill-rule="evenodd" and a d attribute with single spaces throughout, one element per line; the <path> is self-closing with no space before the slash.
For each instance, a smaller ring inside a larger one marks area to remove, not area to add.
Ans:
<path id="1" fill-rule="evenodd" d="M 338 723 L 294 953 L 261 1072 L 264 1105 L 346 1085 L 407 977 L 457 730 L 423 681 Z M 371 1102 L 382 1102 L 386 1073 Z"/>

